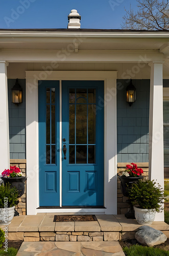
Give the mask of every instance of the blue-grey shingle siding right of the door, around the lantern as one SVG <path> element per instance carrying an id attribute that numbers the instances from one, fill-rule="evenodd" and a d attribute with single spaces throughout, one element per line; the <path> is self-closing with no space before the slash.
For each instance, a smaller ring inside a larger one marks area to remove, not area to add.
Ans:
<path id="1" fill-rule="evenodd" d="M 136 88 L 132 106 L 126 102 L 129 82 L 117 79 L 117 162 L 148 162 L 150 80 L 132 80 Z"/>

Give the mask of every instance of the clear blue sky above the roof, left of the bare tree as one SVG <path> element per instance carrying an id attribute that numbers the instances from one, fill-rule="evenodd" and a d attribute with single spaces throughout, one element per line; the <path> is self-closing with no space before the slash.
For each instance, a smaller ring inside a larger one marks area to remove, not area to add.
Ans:
<path id="1" fill-rule="evenodd" d="M 81 28 L 120 29 L 125 8 L 136 0 L 1 0 L 0 28 L 67 28 L 67 15 L 77 9 Z"/>

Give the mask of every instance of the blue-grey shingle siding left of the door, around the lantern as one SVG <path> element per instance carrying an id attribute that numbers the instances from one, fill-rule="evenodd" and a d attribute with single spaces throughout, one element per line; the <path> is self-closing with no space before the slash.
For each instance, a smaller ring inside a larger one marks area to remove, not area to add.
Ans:
<path id="1" fill-rule="evenodd" d="M 16 79 L 8 79 L 10 159 L 26 159 L 26 80 L 18 79 L 22 103 L 12 103 L 12 87 Z"/>

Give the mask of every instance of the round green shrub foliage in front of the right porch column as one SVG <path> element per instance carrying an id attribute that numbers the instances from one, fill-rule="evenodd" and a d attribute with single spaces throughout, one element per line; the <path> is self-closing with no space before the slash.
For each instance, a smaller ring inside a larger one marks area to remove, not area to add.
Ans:
<path id="1" fill-rule="evenodd" d="M 161 204 L 164 202 L 164 191 L 159 183 L 154 180 L 139 180 L 128 188 L 128 198 L 131 203 L 138 204 L 142 209 L 155 209 L 157 212 L 163 210 Z"/>

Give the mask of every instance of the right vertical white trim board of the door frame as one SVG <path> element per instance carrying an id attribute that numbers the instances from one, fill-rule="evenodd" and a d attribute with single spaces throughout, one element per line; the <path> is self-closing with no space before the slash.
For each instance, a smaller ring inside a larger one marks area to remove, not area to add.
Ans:
<path id="1" fill-rule="evenodd" d="M 105 207 L 106 214 L 117 214 L 117 123 L 116 78 L 106 79 L 104 93 L 105 111 Z"/>

